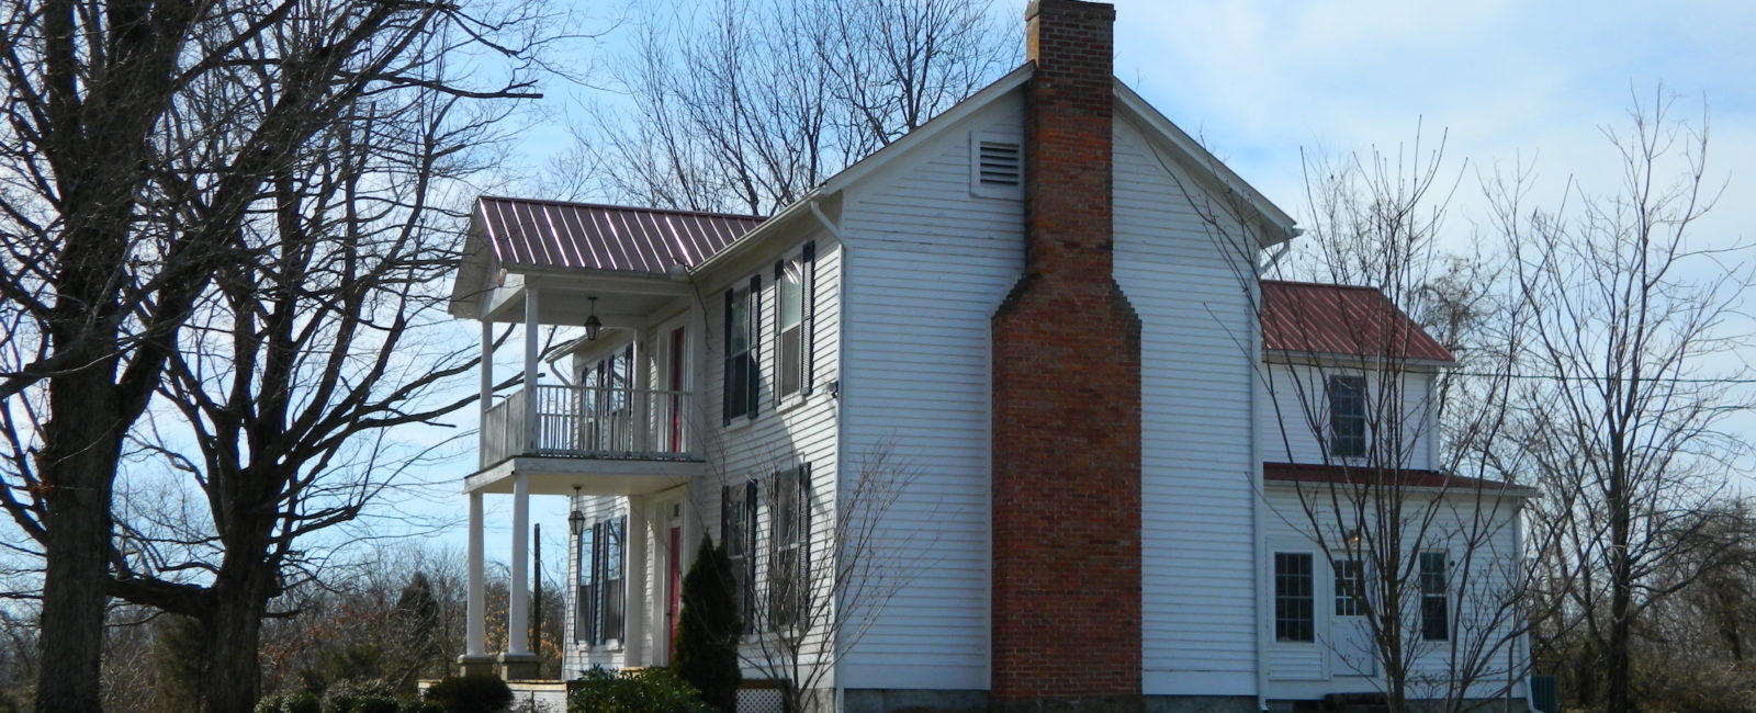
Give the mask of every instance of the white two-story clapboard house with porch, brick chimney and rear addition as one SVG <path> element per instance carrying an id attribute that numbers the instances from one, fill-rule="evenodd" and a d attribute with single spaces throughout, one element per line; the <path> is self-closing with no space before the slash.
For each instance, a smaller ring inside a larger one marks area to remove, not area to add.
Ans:
<path id="1" fill-rule="evenodd" d="M 564 676 L 667 664 L 706 536 L 738 571 L 746 678 L 846 711 L 1377 690 L 1370 574 L 1335 546 L 1357 532 L 1313 493 L 1385 448 L 1398 488 L 1452 513 L 1493 486 L 1503 527 L 1472 543 L 1517 557 L 1526 492 L 1436 472 L 1450 355 L 1375 290 L 1257 277 L 1292 220 L 1113 79 L 1113 9 L 1040 0 L 1027 23 L 1022 67 L 774 216 L 478 200 L 451 302 L 485 351 L 465 669 L 534 660 L 532 495 L 576 513 Z M 507 323 L 523 369 L 493 374 Z M 553 325 L 578 339 L 541 349 Z M 1449 580 L 1466 553 L 1429 544 L 1410 637 L 1431 678 L 1472 602 Z M 1510 639 L 1484 690 L 1522 695 Z"/>

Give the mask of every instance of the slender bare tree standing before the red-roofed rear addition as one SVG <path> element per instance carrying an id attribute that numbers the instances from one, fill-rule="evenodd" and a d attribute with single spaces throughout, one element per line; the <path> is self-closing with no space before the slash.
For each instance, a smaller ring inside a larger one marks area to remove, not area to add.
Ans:
<path id="1" fill-rule="evenodd" d="M 1264 297 L 1261 313 L 1264 332 L 1282 342 L 1264 344 L 1280 364 L 1261 371 L 1282 429 L 1273 451 L 1331 465 L 1328 478 L 1291 483 L 1291 508 L 1264 485 L 1266 501 L 1321 551 L 1336 615 L 1366 634 L 1352 652 L 1363 662 L 1356 673 L 1377 671 L 1398 711 L 1417 699 L 1461 711 L 1524 678 L 1531 578 L 1522 555 L 1544 546 L 1521 541 L 1526 492 L 1507 483 L 1505 462 L 1484 455 L 1507 425 L 1507 346 L 1519 339 L 1519 316 L 1484 316 L 1494 306 L 1459 277 L 1479 263 L 1435 246 L 1457 176 L 1443 170 L 1443 142 L 1419 139 L 1394 155 L 1308 170 L 1305 276 L 1377 295 Z M 1466 349 L 1477 371 L 1445 374 L 1398 309 Z M 1489 323 L 1494 334 L 1484 332 Z M 1335 355 L 1333 341 L 1312 337 L 1338 328 L 1357 355 Z M 1328 646 L 1342 639 L 1336 632 Z"/>

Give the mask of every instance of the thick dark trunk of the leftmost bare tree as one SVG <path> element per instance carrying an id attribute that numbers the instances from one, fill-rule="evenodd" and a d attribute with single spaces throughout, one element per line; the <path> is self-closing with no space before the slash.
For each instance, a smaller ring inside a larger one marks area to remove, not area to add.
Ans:
<path id="1" fill-rule="evenodd" d="M 112 372 L 95 365 L 49 385 L 54 414 L 40 458 L 44 525 L 42 667 L 37 713 L 97 713 L 111 548 L 111 486 L 121 439 Z"/>

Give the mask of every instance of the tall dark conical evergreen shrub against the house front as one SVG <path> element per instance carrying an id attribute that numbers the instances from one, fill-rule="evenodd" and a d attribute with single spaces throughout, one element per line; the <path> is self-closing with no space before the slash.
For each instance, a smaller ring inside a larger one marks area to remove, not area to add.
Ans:
<path id="1" fill-rule="evenodd" d="M 743 632 L 732 560 L 706 536 L 683 578 L 683 611 L 676 623 L 671 667 L 701 699 L 723 713 L 738 709 L 738 636 Z"/>

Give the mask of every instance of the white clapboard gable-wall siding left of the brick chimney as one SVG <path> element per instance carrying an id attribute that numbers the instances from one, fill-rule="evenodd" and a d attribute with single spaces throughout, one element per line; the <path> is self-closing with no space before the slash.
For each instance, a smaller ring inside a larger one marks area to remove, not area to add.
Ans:
<path id="1" fill-rule="evenodd" d="M 971 132 L 1017 140 L 1018 95 L 845 198 L 846 467 L 889 450 L 915 476 L 882 523 L 908 585 L 853 643 L 850 688 L 989 687 L 989 320 L 1024 267 L 1024 207 L 971 197 Z"/>

